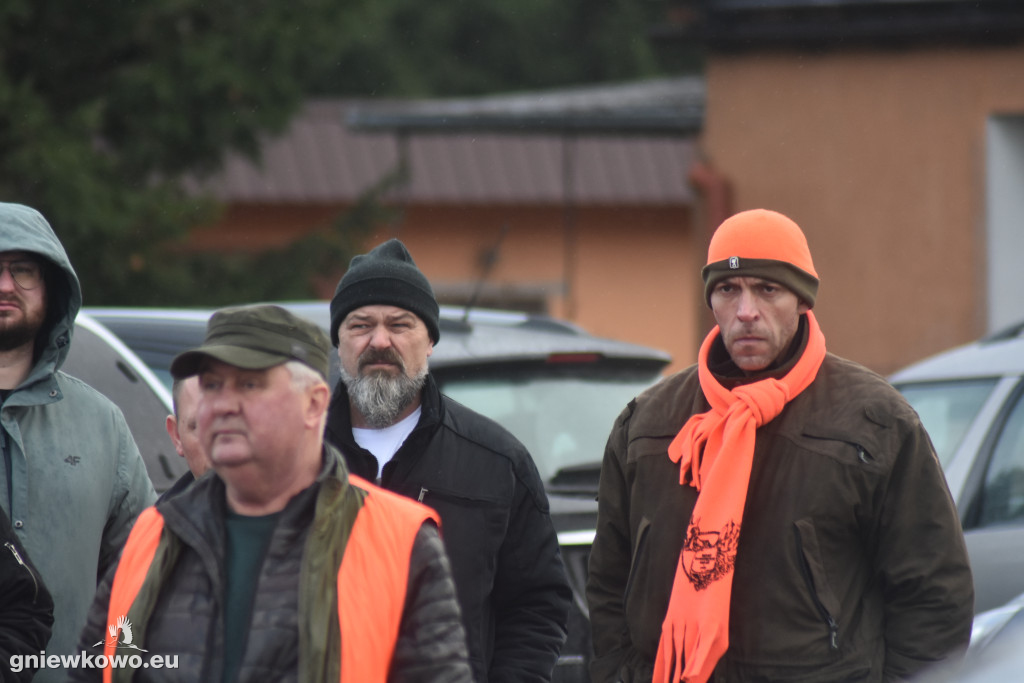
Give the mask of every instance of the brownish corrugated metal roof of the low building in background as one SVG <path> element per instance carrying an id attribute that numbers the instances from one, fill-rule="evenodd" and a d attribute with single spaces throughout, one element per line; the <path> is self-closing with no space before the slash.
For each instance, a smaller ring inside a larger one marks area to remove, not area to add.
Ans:
<path id="1" fill-rule="evenodd" d="M 352 111 L 366 106 L 365 100 L 308 101 L 284 134 L 266 140 L 260 163 L 231 155 L 201 186 L 227 203 L 352 202 L 398 163 L 397 135 L 346 125 Z M 692 200 L 691 136 L 463 131 L 409 135 L 406 144 L 411 173 L 400 196 L 408 202 L 560 203 L 567 177 L 581 203 Z"/>

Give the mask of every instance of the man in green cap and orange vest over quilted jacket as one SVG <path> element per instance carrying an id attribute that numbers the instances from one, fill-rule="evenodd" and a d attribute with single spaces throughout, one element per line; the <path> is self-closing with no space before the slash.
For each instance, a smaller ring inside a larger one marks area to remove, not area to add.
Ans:
<path id="1" fill-rule="evenodd" d="M 436 514 L 324 443 L 329 352 L 313 323 L 257 305 L 175 357 L 216 475 L 139 516 L 83 650 L 139 653 L 133 680 L 471 680 Z"/>

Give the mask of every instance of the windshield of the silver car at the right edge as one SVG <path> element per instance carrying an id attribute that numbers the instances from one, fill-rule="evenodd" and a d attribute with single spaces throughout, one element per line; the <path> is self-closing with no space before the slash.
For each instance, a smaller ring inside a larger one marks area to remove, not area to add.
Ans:
<path id="1" fill-rule="evenodd" d="M 921 416 L 943 467 L 949 466 L 995 382 L 977 379 L 896 385 Z"/>

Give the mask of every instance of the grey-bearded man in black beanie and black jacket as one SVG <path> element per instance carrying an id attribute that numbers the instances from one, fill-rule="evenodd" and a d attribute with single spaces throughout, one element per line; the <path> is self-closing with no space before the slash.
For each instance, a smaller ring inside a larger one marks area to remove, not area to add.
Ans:
<path id="1" fill-rule="evenodd" d="M 353 472 L 440 515 L 475 679 L 550 680 L 571 594 L 544 483 L 518 439 L 438 389 L 437 300 L 401 242 L 352 259 L 331 337 L 342 381 L 327 439 Z"/>

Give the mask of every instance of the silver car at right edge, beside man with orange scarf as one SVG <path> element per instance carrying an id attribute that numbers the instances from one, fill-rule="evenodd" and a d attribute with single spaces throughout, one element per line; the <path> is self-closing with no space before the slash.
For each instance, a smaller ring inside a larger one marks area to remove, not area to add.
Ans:
<path id="1" fill-rule="evenodd" d="M 976 612 L 1024 593 L 1022 333 L 1024 324 L 890 377 L 921 415 L 945 471 L 971 555 Z"/>

